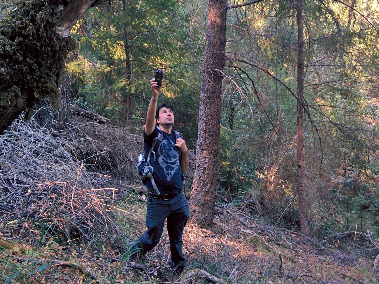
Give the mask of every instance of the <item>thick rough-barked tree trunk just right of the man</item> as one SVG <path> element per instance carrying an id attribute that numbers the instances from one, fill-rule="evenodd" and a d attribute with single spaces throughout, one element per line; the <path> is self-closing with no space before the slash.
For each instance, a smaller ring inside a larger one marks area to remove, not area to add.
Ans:
<path id="1" fill-rule="evenodd" d="M 200 90 L 199 135 L 196 148 L 190 215 L 200 227 L 211 227 L 218 177 L 220 110 L 226 46 L 226 0 L 208 2 L 208 25 Z"/>

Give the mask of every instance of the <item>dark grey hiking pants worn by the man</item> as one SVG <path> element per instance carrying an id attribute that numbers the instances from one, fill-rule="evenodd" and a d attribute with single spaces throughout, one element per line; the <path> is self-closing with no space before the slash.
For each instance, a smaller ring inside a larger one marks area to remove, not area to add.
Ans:
<path id="1" fill-rule="evenodd" d="M 183 193 L 170 200 L 147 198 L 147 231 L 139 237 L 131 249 L 139 249 L 142 254 L 152 250 L 159 242 L 167 218 L 167 231 L 170 238 L 172 268 L 183 270 L 186 259 L 183 257 L 183 230 L 189 218 L 189 205 Z"/>

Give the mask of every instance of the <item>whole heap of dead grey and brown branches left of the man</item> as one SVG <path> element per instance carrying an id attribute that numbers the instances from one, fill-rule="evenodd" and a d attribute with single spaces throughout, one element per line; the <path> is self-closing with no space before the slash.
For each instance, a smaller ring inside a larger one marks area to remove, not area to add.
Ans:
<path id="1" fill-rule="evenodd" d="M 45 228 L 61 242 L 113 242 L 121 236 L 113 201 L 140 183 L 141 151 L 142 136 L 118 126 L 15 121 L 0 136 L 0 225 Z"/>

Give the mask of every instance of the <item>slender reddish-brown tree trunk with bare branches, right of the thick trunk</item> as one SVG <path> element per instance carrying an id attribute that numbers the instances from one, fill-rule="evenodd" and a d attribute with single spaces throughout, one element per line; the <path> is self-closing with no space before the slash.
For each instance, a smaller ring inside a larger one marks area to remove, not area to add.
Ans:
<path id="1" fill-rule="evenodd" d="M 296 151 L 296 166 L 297 166 L 297 183 L 299 214 L 300 214 L 300 229 L 303 234 L 309 234 L 308 226 L 308 211 L 307 197 L 304 188 L 304 31 L 303 31 L 303 16 L 302 16 L 302 0 L 295 1 L 297 10 L 298 24 L 298 130 L 297 130 L 297 151 Z"/>

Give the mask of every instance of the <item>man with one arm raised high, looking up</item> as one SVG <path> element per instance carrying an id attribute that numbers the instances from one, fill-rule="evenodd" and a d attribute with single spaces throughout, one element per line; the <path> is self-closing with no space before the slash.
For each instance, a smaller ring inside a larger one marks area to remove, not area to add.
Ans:
<path id="1" fill-rule="evenodd" d="M 157 137 L 159 129 L 163 139 L 154 147 L 150 155 L 150 165 L 153 167 L 153 180 L 160 194 L 153 188 L 150 179 L 144 179 L 147 187 L 147 231 L 132 244 L 131 250 L 136 254 L 145 254 L 157 245 L 162 236 L 164 220 L 167 218 L 167 231 L 170 238 L 171 265 L 176 275 L 182 273 L 186 259 L 183 257 L 182 234 L 189 218 L 188 201 L 182 190 L 182 173 L 188 166 L 188 148 L 182 138 L 175 137 L 172 131 L 174 113 L 171 106 L 163 104 L 157 108 L 162 84 L 158 86 L 155 79 L 150 80 L 152 98 L 147 109 L 144 128 L 145 157 Z M 134 256 L 135 256 L 134 255 Z"/>

